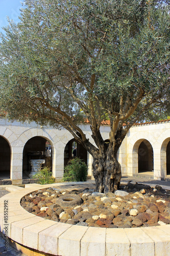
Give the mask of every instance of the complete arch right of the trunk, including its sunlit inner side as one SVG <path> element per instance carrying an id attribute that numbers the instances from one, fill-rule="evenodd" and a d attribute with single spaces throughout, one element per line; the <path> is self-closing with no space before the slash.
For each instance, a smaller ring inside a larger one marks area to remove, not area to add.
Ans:
<path id="1" fill-rule="evenodd" d="M 132 171 L 133 174 L 152 172 L 154 169 L 153 147 L 146 139 L 139 139 L 133 146 Z"/>

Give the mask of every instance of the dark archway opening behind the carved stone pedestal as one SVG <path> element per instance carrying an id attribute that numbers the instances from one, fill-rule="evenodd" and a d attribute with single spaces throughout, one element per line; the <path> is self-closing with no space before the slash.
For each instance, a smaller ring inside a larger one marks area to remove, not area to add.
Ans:
<path id="1" fill-rule="evenodd" d="M 47 166 L 52 170 L 52 146 L 46 139 L 35 136 L 27 141 L 23 148 L 22 158 L 23 179 L 28 178 L 31 172 L 30 160 L 44 159 L 45 163 L 42 167 Z"/>

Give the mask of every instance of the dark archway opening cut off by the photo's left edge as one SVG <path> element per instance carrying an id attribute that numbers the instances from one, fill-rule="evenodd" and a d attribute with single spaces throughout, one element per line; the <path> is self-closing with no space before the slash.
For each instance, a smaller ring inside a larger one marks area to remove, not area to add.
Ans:
<path id="1" fill-rule="evenodd" d="M 8 141 L 0 136 L 0 179 L 10 179 L 11 148 Z"/>

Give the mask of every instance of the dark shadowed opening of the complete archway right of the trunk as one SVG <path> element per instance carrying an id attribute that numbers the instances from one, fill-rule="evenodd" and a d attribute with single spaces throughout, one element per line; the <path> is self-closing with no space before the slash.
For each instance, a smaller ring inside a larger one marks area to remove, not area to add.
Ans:
<path id="1" fill-rule="evenodd" d="M 153 148 L 148 140 L 143 140 L 138 148 L 138 173 L 152 172 L 154 168 Z"/>

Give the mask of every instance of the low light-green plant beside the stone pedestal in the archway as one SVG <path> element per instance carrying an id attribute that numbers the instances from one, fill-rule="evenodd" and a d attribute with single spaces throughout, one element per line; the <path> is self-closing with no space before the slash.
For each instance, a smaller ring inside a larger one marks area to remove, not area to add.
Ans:
<path id="1" fill-rule="evenodd" d="M 37 183 L 41 185 L 55 183 L 55 178 L 52 177 L 50 168 L 46 166 L 38 174 L 34 175 L 33 178 L 37 179 Z"/>

